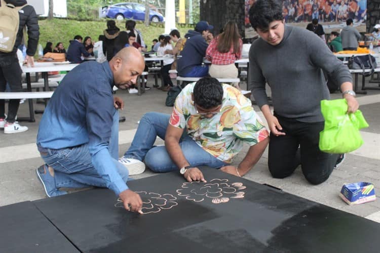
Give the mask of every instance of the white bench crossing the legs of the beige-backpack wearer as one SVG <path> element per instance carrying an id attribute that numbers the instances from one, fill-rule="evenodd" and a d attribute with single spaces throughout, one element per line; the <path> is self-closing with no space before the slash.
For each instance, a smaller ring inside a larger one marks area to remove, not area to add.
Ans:
<path id="1" fill-rule="evenodd" d="M 18 118 L 19 121 L 34 122 L 33 99 L 51 98 L 54 92 L 0 92 L 0 99 L 28 99 L 29 118 Z"/>

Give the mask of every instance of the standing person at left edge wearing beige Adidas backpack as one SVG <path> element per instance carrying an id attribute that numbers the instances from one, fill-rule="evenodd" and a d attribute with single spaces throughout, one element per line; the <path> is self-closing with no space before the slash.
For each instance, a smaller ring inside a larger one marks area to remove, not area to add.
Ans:
<path id="1" fill-rule="evenodd" d="M 0 92 L 5 92 L 7 82 L 12 92 L 22 92 L 22 70 L 16 52 L 21 44 L 23 29 L 26 26 L 28 28 L 28 42 L 25 61 L 28 65 L 34 66 L 33 56 L 37 50 L 40 37 L 38 19 L 34 8 L 27 5 L 25 0 L 1 0 L 0 3 Z M 15 20 L 9 22 L 8 15 L 12 15 Z M 12 27 L 15 28 L 14 31 L 7 33 Z M 6 43 L 12 40 L 15 42 L 8 48 Z M 5 118 L 5 100 L 0 100 L 0 128 L 4 128 L 5 134 L 28 130 L 27 126 L 21 126 L 16 121 L 19 105 L 19 99 L 11 99 L 8 106 L 8 116 Z"/>

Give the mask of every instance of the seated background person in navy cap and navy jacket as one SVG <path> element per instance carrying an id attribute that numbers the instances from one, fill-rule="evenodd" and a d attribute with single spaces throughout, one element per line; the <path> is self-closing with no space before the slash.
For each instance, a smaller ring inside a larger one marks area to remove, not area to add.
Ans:
<path id="1" fill-rule="evenodd" d="M 177 60 L 178 75 L 182 77 L 204 77 L 208 75 L 208 66 L 202 65 L 206 56 L 207 37 L 214 27 L 206 21 L 199 21 L 195 30 L 185 34 L 186 44 Z"/>

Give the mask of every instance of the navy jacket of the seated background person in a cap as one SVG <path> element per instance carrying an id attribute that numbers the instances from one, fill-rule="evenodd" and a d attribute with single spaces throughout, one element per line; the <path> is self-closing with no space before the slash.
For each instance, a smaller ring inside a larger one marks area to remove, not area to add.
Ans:
<path id="1" fill-rule="evenodd" d="M 178 75 L 182 76 L 192 70 L 194 66 L 201 65 L 206 57 L 208 44 L 202 34 L 193 30 L 188 30 L 185 35 L 186 44 L 177 59 Z"/>

